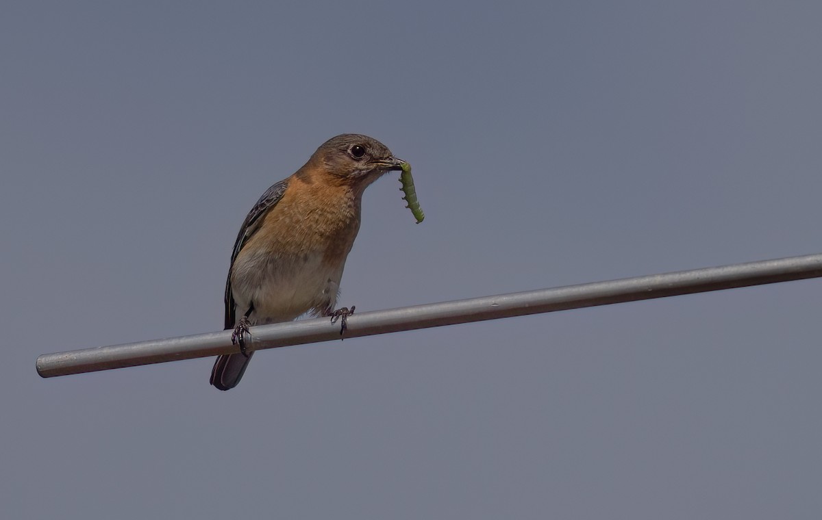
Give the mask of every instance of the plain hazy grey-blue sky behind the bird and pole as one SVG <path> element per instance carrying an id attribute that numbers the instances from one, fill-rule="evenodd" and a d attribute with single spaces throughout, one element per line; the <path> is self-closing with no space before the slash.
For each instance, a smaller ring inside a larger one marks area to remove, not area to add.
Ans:
<path id="1" fill-rule="evenodd" d="M 323 141 L 373 311 L 822 251 L 820 2 L 3 2 L 3 518 L 820 518 L 810 280 L 42 380 L 221 329 Z"/>

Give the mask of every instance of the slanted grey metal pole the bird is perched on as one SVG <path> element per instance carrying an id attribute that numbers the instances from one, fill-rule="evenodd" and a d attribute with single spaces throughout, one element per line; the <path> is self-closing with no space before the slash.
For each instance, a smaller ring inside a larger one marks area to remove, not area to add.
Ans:
<path id="1" fill-rule="evenodd" d="M 624 301 L 649 300 L 818 277 L 822 277 L 822 254 L 676 273 L 650 274 L 608 282 L 583 283 L 561 288 L 358 313 L 349 318 L 349 329 L 345 337 L 357 338 L 400 330 L 496 320 L 510 316 L 566 311 Z M 252 338 L 246 345 L 251 350 L 261 350 L 332 340 L 339 341 L 339 324 L 330 324 L 327 318 L 318 318 L 253 327 Z M 43 377 L 53 377 L 230 352 L 238 352 L 238 347 L 231 344 L 229 330 L 44 354 L 37 358 L 37 372 Z"/>

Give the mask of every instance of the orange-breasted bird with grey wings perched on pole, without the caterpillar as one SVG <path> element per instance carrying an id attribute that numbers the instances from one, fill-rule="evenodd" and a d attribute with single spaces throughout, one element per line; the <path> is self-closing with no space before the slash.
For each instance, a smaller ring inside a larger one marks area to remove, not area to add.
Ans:
<path id="1" fill-rule="evenodd" d="M 300 315 L 342 318 L 335 309 L 345 260 L 360 227 L 363 191 L 406 164 L 380 141 L 362 134 L 326 140 L 302 168 L 262 194 L 242 222 L 225 282 L 225 329 L 240 352 L 217 357 L 210 383 L 233 389 L 253 351 L 248 327 Z"/>

